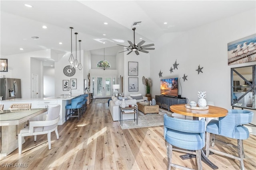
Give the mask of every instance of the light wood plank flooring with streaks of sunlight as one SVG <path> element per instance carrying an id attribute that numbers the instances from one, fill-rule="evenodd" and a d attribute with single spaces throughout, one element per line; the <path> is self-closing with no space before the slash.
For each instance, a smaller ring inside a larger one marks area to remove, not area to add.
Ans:
<path id="1" fill-rule="evenodd" d="M 52 132 L 52 149 L 48 150 L 47 135 L 25 137 L 22 154 L 18 149 L 0 158 L 0 169 L 30 170 L 165 170 L 167 168 L 166 143 L 163 126 L 122 130 L 118 121 L 113 122 L 107 103 L 88 105 L 82 119 L 71 118 L 58 126 L 60 138 Z M 216 136 L 221 141 L 236 145 L 236 140 Z M 236 154 L 236 149 L 225 149 L 216 142 L 215 149 Z M 256 136 L 244 140 L 244 166 L 246 170 L 256 169 Z M 182 160 L 184 153 L 174 151 L 173 162 L 197 169 L 196 159 Z M 209 159 L 219 170 L 238 170 L 239 161 L 212 154 Z M 23 165 L 27 167 L 12 167 Z M 211 168 L 202 162 L 204 170 Z M 175 169 L 175 168 L 172 168 Z"/>

